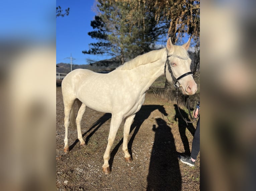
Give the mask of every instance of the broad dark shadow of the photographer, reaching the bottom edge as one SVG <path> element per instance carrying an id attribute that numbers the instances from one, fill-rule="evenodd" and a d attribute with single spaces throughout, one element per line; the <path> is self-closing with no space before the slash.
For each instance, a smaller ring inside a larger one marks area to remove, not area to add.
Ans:
<path id="1" fill-rule="evenodd" d="M 155 141 L 152 148 L 147 190 L 181 190 L 181 174 L 171 128 L 161 119 L 153 125 Z"/>

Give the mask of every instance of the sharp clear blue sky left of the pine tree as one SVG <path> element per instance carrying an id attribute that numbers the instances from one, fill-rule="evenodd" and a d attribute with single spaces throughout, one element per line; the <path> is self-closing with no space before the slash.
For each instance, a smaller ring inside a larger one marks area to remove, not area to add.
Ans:
<path id="1" fill-rule="evenodd" d="M 89 50 L 89 44 L 97 42 L 92 39 L 88 32 L 93 31 L 91 21 L 96 15 L 93 12 L 95 0 L 57 0 L 56 6 L 60 6 L 64 11 L 70 8 L 68 16 L 56 18 L 56 64 L 70 63 L 68 59 L 71 54 L 72 64 L 88 64 L 86 59 L 95 61 L 111 57 L 103 55 L 83 54 L 83 50 Z"/>

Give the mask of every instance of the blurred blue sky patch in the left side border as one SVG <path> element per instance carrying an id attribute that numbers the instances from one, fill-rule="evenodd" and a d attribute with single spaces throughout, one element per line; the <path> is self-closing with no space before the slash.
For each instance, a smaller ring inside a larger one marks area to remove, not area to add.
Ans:
<path id="1" fill-rule="evenodd" d="M 52 0 L 3 0 L 0 40 L 55 41 L 55 2 Z"/>

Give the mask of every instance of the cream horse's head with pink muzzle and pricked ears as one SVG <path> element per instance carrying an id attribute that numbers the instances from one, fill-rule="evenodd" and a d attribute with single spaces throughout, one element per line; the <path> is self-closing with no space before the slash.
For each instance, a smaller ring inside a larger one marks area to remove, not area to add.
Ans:
<path id="1" fill-rule="evenodd" d="M 197 84 L 190 71 L 191 59 L 188 57 L 187 49 L 190 39 L 182 46 L 176 46 L 167 40 L 167 60 L 165 63 L 165 76 L 169 83 L 177 88 L 181 88 L 184 95 L 193 95 L 197 91 Z"/>

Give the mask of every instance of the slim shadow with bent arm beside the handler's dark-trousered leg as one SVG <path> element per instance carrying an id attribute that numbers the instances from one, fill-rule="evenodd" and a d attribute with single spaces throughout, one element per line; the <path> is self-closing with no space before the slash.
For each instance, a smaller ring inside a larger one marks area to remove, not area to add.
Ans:
<path id="1" fill-rule="evenodd" d="M 176 114 L 174 116 L 174 120 L 178 121 L 179 134 L 180 134 L 180 138 L 181 138 L 181 141 L 183 143 L 183 146 L 184 146 L 184 154 L 187 155 L 187 156 L 190 156 L 189 142 L 188 142 L 188 139 L 187 139 L 187 136 L 186 136 L 186 128 L 189 130 L 189 132 L 193 136 L 195 134 L 196 129 L 194 128 L 192 123 L 188 123 L 188 125 L 187 125 L 186 122 L 181 117 L 180 113 L 182 114 L 182 116 L 184 118 L 187 119 L 187 121 L 190 121 L 190 119 L 188 118 L 187 113 L 183 109 L 179 108 L 179 110 L 180 110 L 180 113 L 179 113 L 177 104 L 174 104 L 174 108 L 175 108 L 175 112 L 176 112 Z"/>

